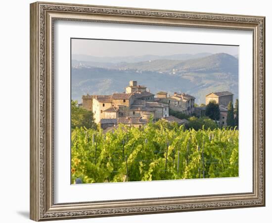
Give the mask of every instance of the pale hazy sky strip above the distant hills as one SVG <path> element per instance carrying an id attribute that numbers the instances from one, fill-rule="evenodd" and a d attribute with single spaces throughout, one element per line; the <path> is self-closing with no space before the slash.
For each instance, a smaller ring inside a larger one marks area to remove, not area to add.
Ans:
<path id="1" fill-rule="evenodd" d="M 237 46 L 72 39 L 73 55 L 142 56 L 199 53 L 238 55 Z"/>

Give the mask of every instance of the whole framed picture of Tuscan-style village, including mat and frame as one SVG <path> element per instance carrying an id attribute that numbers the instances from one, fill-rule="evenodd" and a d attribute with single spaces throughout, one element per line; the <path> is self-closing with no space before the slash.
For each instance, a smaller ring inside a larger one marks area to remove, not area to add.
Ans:
<path id="1" fill-rule="evenodd" d="M 265 17 L 30 4 L 30 218 L 265 206 Z"/>

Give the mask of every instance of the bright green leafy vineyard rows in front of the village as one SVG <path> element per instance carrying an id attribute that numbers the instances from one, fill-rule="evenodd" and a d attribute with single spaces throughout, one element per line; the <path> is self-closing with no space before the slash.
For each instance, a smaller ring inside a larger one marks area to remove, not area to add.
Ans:
<path id="1" fill-rule="evenodd" d="M 238 176 L 238 130 L 185 130 L 160 120 L 103 132 L 75 128 L 71 183 Z"/>

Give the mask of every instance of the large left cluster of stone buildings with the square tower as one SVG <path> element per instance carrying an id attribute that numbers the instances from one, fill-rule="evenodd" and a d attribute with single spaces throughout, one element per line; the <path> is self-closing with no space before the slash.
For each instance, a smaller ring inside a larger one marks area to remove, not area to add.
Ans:
<path id="1" fill-rule="evenodd" d="M 151 115 L 155 119 L 169 116 L 168 104 L 154 102 L 154 94 L 147 92 L 146 87 L 137 85 L 136 81 L 130 81 L 130 85 L 127 88 L 131 88 L 133 93 L 84 95 L 83 107 L 93 112 L 95 122 L 100 123 L 101 127 L 114 126 L 114 123 L 108 123 L 113 120 L 108 119 L 129 117 L 148 120 Z"/>

